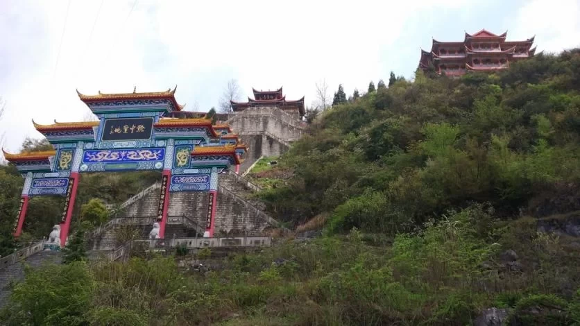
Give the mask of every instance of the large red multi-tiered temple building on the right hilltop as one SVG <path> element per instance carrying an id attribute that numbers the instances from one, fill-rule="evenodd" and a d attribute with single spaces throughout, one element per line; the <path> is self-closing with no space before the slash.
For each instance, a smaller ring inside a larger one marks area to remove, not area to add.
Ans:
<path id="1" fill-rule="evenodd" d="M 463 42 L 439 42 L 433 39 L 431 51 L 421 50 L 419 68 L 432 65 L 438 74 L 461 76 L 467 71 L 497 71 L 509 68 L 510 62 L 530 58 L 534 37 L 524 41 L 506 41 L 507 32 L 495 35 L 485 29 L 470 35 Z"/>

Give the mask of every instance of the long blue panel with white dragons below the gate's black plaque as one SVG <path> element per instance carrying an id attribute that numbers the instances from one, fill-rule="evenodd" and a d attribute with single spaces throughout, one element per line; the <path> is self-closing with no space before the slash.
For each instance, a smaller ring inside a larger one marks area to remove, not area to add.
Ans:
<path id="1" fill-rule="evenodd" d="M 92 150 L 83 153 L 83 163 L 162 161 L 164 155 L 165 148 Z"/>

